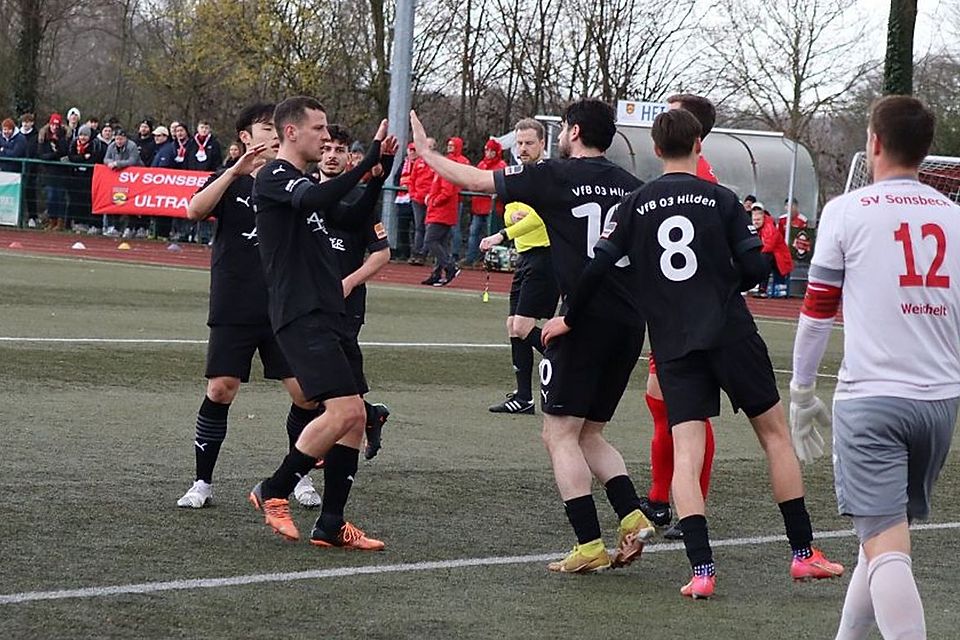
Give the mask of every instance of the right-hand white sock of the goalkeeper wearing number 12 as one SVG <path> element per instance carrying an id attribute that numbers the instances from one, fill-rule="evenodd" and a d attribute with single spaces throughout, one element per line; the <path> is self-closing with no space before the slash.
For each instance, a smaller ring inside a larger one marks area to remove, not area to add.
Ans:
<path id="1" fill-rule="evenodd" d="M 881 553 L 868 572 L 873 611 L 885 640 L 925 640 L 923 602 L 913 579 L 913 562 L 900 552 Z"/>

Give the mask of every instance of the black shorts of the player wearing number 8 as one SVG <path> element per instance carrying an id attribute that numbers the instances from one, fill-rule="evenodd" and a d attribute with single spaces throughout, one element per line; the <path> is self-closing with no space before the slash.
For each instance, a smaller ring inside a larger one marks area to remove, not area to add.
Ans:
<path id="1" fill-rule="evenodd" d="M 657 360 L 670 426 L 720 415 L 720 390 L 734 412 L 755 418 L 780 401 L 773 364 L 759 333 L 676 360 Z"/>

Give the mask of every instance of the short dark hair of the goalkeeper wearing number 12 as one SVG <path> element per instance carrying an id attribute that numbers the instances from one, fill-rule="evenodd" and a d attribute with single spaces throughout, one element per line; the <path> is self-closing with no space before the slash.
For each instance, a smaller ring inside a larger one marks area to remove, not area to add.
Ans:
<path id="1" fill-rule="evenodd" d="M 886 96 L 870 108 L 869 126 L 894 160 L 916 167 L 930 151 L 936 117 L 916 98 Z"/>

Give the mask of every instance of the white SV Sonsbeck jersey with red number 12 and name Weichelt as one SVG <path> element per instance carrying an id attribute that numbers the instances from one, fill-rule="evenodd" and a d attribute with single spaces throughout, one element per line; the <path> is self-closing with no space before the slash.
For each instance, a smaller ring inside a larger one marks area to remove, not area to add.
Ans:
<path id="1" fill-rule="evenodd" d="M 892 179 L 832 200 L 809 286 L 842 288 L 835 399 L 960 396 L 960 207 L 944 195 Z"/>

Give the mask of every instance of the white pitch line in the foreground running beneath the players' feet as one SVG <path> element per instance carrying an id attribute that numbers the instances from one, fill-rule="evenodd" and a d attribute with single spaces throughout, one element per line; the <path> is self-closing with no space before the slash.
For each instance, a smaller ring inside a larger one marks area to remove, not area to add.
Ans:
<path id="1" fill-rule="evenodd" d="M 960 522 L 943 522 L 937 524 L 923 524 L 911 527 L 914 531 L 929 531 L 943 529 L 960 529 Z M 837 531 L 821 531 L 816 534 L 818 539 L 852 538 L 855 533 L 852 529 Z M 784 542 L 786 536 L 758 536 L 752 538 L 730 538 L 713 540 L 713 547 L 745 547 L 772 542 Z M 664 553 L 668 551 L 682 551 L 683 543 L 656 544 L 644 549 L 644 553 Z M 107 587 L 87 587 L 84 589 L 62 589 L 57 591 L 23 591 L 0 595 L 0 604 L 20 604 L 37 602 L 40 600 L 68 600 L 75 598 L 102 598 L 139 593 L 157 593 L 161 591 L 183 591 L 188 589 L 216 589 L 220 587 L 235 587 L 248 584 L 264 584 L 269 582 L 294 582 L 297 580 L 325 580 L 328 578 L 348 578 L 363 575 L 382 575 L 387 573 L 417 573 L 422 571 L 437 571 L 441 569 L 465 569 L 470 567 L 492 567 L 516 564 L 532 564 L 549 562 L 562 557 L 563 552 L 541 553 L 526 556 L 499 556 L 488 558 L 462 558 L 459 560 L 440 560 L 435 562 L 411 562 L 405 564 L 381 564 L 367 567 L 340 567 L 337 569 L 315 569 L 312 571 L 292 571 L 288 573 L 256 573 L 231 578 L 198 578 L 194 580 L 170 580 L 167 582 L 143 582 L 139 584 L 121 584 Z"/>

